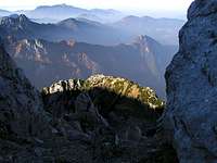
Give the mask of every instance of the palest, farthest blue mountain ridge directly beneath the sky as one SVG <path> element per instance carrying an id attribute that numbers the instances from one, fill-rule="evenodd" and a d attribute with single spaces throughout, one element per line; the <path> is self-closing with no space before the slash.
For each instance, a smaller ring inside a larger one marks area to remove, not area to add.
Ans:
<path id="1" fill-rule="evenodd" d="M 30 18 L 50 18 L 55 20 L 55 22 L 60 22 L 62 20 L 66 20 L 69 17 L 80 17 L 80 15 L 94 15 L 99 17 L 99 20 L 92 21 L 102 21 L 103 23 L 115 22 L 125 16 L 124 13 L 116 10 L 103 10 L 103 9 L 81 9 L 67 4 L 55 4 L 55 5 L 40 5 L 35 10 L 30 11 L 20 11 L 20 14 L 26 14 Z"/>

